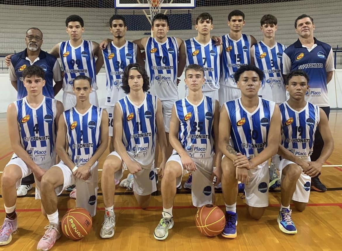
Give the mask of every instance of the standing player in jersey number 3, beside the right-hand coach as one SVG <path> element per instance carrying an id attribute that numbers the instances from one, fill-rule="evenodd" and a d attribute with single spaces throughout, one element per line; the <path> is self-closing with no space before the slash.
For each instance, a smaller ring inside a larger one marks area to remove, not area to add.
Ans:
<path id="1" fill-rule="evenodd" d="M 264 73 L 261 81 L 259 96 L 280 104 L 286 100 L 286 90 L 282 70 L 282 53 L 286 46 L 275 41 L 277 18 L 273 15 L 264 15 L 260 20 L 260 30 L 263 40 L 251 47 L 251 64 L 255 64 Z M 269 187 L 279 186 L 279 176 L 275 166 L 279 165 L 279 156 L 272 156 L 269 168 Z"/>

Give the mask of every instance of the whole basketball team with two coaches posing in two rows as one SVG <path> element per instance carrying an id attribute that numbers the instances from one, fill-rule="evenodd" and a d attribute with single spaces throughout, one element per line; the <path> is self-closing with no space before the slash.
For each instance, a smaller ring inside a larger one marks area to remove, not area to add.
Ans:
<path id="1" fill-rule="evenodd" d="M 214 186 L 222 187 L 223 237 L 237 236 L 241 187 L 250 216 L 258 220 L 268 206 L 269 186 L 280 186 L 279 228 L 297 233 L 291 200 L 303 211 L 311 187 L 326 190 L 318 175 L 334 148 L 327 94 L 334 71 L 332 48 L 314 38 L 308 15 L 295 19 L 299 39 L 287 48 L 275 40 L 273 15 L 260 20 L 260 42 L 242 33 L 243 12 L 229 13 L 227 24 L 228 34 L 211 37 L 213 18 L 202 13 L 196 19 L 197 37 L 182 41 L 167 36 L 168 16 L 157 14 L 153 37 L 130 42 L 124 17 L 113 15 L 113 37 L 98 44 L 82 39 L 83 20 L 71 15 L 66 19 L 70 40 L 50 53 L 40 48 L 42 32 L 28 29 L 27 48 L 6 58 L 18 100 L 7 110 L 14 154 L 1 177 L 6 216 L 0 245 L 10 243 L 17 230 L 16 189 L 31 173 L 36 199 L 49 221 L 37 250 L 50 250 L 61 237 L 57 196 L 71 185 L 77 188 L 76 207 L 95 215 L 98 159 L 107 149 L 108 135 L 110 153 L 101 176 L 102 238 L 114 235 L 115 186 L 126 169 L 129 175 L 120 186 L 133 190 L 141 208 L 149 206 L 157 176 L 162 178 L 157 240 L 166 239 L 174 225 L 176 189 L 188 172 L 195 207 L 214 204 Z M 98 107 L 96 94 L 96 74 L 103 64 L 105 109 Z M 184 68 L 186 95 L 179 99 Z M 63 103 L 54 99 L 62 87 Z"/>

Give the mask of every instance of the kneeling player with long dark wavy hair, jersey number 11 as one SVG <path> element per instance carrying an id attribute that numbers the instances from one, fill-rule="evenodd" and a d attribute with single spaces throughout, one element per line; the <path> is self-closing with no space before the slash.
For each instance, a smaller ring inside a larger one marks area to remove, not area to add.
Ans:
<path id="1" fill-rule="evenodd" d="M 148 94 L 149 79 L 145 70 L 138 64 L 126 67 L 122 76 L 122 87 L 127 94 L 114 108 L 114 146 L 104 164 L 101 187 L 105 205 L 105 219 L 100 236 L 110 238 L 114 235 L 114 193 L 113 177 L 121 179 L 123 170 L 133 174 L 130 184 L 139 207 L 149 205 L 151 193 L 157 191 L 154 172 L 157 137 L 162 153 L 159 175 L 163 174 L 166 163 L 167 141 L 163 125 L 160 100 Z"/>

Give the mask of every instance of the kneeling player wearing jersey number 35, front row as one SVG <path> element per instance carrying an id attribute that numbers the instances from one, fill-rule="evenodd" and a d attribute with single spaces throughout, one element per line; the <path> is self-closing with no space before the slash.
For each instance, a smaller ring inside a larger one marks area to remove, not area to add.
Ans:
<path id="1" fill-rule="evenodd" d="M 157 240 L 166 239 L 169 229 L 173 227 L 173 200 L 176 187 L 182 181 L 183 169 L 192 171 L 192 201 L 195 207 L 214 203 L 214 175 L 218 177 L 215 185 L 221 180 L 222 154 L 218 152 L 213 171 L 214 149 L 218 149 L 218 142 L 214 139 L 218 139 L 220 105 L 214 98 L 203 95 L 204 75 L 202 66 L 187 66 L 184 81 L 189 95 L 176 101 L 172 108 L 170 143 L 174 150 L 167 161 L 161 183 L 163 212 L 154 231 Z"/>

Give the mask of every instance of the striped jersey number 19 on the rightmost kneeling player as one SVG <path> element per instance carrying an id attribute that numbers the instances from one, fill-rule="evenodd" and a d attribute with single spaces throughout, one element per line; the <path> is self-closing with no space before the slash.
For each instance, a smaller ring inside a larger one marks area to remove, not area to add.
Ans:
<path id="1" fill-rule="evenodd" d="M 287 102 L 279 106 L 281 114 L 281 144 L 294 155 L 307 158 L 312 154 L 315 132 L 318 130 L 319 107 L 306 102 L 301 111 L 293 110 Z"/>

